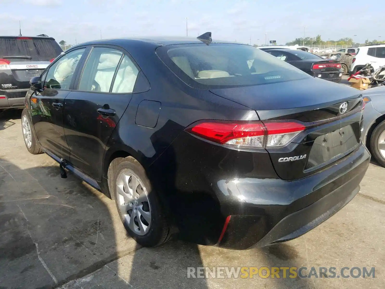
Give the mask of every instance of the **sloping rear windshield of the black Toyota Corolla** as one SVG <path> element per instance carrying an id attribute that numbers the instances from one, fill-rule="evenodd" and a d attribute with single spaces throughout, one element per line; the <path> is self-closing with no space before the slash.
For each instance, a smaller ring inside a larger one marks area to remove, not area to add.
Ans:
<path id="1" fill-rule="evenodd" d="M 159 47 L 156 52 L 176 76 L 199 89 L 259 85 L 310 77 L 250 45 L 167 45 Z"/>

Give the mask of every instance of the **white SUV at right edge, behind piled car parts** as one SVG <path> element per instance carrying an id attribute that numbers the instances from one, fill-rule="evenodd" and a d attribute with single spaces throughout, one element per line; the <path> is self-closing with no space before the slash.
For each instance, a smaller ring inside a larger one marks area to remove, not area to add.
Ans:
<path id="1" fill-rule="evenodd" d="M 359 47 L 357 54 L 354 55 L 350 74 L 359 71 L 367 63 L 372 64 L 374 69 L 385 65 L 385 44 Z"/>

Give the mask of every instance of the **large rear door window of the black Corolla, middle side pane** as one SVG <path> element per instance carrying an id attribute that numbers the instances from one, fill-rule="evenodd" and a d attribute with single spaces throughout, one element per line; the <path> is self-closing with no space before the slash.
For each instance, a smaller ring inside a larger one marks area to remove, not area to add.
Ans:
<path id="1" fill-rule="evenodd" d="M 109 92 L 122 52 L 107 47 L 94 47 L 85 63 L 79 90 Z"/>

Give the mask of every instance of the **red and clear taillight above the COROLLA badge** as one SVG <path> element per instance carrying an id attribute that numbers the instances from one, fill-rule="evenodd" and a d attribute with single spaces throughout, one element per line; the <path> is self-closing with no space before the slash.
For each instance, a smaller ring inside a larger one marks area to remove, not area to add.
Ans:
<path id="1" fill-rule="evenodd" d="M 285 146 L 305 126 L 296 121 L 199 121 L 186 130 L 220 144 L 263 148 Z"/>

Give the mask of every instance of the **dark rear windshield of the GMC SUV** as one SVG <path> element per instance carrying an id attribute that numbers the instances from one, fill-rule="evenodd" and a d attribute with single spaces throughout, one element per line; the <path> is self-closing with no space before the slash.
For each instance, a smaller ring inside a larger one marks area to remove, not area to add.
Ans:
<path id="1" fill-rule="evenodd" d="M 10 61 L 49 61 L 63 50 L 53 39 L 17 39 L 0 37 L 0 58 Z M 16 57 L 14 57 L 16 56 Z M 27 56 L 23 58 L 22 56 Z"/>

